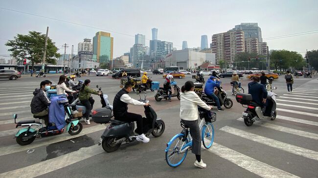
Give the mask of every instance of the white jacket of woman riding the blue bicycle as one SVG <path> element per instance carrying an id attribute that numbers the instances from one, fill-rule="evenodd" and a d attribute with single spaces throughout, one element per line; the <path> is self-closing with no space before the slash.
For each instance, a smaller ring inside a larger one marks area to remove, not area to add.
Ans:
<path id="1" fill-rule="evenodd" d="M 180 118 L 183 120 L 197 120 L 198 106 L 210 110 L 194 91 L 180 92 L 180 98 Z"/>

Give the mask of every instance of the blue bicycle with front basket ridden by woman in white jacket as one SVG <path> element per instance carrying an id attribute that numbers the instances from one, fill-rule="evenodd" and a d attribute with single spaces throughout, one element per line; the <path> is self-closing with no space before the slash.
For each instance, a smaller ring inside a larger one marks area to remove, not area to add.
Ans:
<path id="1" fill-rule="evenodd" d="M 201 107 L 199 107 L 199 113 L 202 143 L 204 148 L 209 149 L 214 140 L 214 126 L 212 122 L 216 120 L 216 113 L 207 112 Z M 192 149 L 192 137 L 189 128 L 182 121 L 180 123 L 183 128 L 182 132 L 171 138 L 165 149 L 165 160 L 171 167 L 178 167 L 184 161 L 188 150 Z"/>

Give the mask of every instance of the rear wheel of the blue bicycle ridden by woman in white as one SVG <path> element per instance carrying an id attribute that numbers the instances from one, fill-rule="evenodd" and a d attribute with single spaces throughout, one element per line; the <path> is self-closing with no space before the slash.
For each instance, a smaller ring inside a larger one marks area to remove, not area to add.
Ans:
<path id="1" fill-rule="evenodd" d="M 174 138 L 171 140 L 171 144 L 169 147 L 166 148 L 166 162 L 171 167 L 178 167 L 183 160 L 185 159 L 188 150 L 184 153 L 180 153 L 182 145 L 184 145 L 182 138 L 184 135 L 180 135 L 179 137 Z M 185 139 L 185 144 L 188 143 L 188 139 Z"/>

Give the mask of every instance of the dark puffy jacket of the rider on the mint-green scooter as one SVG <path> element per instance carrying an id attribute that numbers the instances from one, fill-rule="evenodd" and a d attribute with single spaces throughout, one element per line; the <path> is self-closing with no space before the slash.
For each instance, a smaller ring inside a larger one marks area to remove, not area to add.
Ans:
<path id="1" fill-rule="evenodd" d="M 51 101 L 46 96 L 46 91 L 42 89 L 35 89 L 33 92 L 33 99 L 31 101 L 31 113 L 37 114 L 44 111 Z"/>

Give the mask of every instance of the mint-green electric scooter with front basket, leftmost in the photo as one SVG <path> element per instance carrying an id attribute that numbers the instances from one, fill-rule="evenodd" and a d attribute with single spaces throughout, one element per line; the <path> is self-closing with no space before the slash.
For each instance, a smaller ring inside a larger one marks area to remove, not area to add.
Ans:
<path id="1" fill-rule="evenodd" d="M 74 115 L 71 113 L 71 108 L 68 106 L 67 99 L 59 101 L 60 104 L 64 105 L 65 109 L 65 121 L 67 123 L 67 129 L 69 135 L 77 135 L 82 129 L 83 125 L 79 122 L 80 118 L 74 118 Z M 19 145 L 28 145 L 34 141 L 35 138 L 48 137 L 62 134 L 64 132 L 64 127 L 59 130 L 53 123 L 49 123 L 48 126 L 43 126 L 41 122 L 33 120 L 22 120 L 18 123 L 16 119 L 18 118 L 17 114 L 13 115 L 14 123 L 16 123 L 16 128 L 19 126 L 27 128 L 20 129 L 15 135 L 16 141 Z M 44 117 L 33 116 L 35 119 L 44 119 Z"/>

